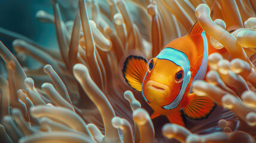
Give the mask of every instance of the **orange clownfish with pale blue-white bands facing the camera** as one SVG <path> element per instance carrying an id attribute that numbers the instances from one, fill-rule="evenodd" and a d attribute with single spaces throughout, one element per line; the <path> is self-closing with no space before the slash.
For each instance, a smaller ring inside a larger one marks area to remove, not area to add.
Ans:
<path id="1" fill-rule="evenodd" d="M 196 22 L 188 35 L 174 39 L 149 61 L 129 55 L 121 72 L 154 110 L 151 119 L 164 115 L 170 123 L 185 126 L 184 116 L 206 119 L 216 106 L 209 97 L 190 91 L 194 80 L 205 78 L 208 55 L 213 52 L 226 51 L 212 47 L 209 35 Z"/>

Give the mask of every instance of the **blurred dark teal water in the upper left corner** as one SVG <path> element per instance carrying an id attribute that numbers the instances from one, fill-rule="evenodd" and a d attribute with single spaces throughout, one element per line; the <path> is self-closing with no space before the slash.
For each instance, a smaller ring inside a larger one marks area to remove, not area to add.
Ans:
<path id="1" fill-rule="evenodd" d="M 49 48 L 56 47 L 54 25 L 36 20 L 35 14 L 38 10 L 53 14 L 50 0 L 0 0 L 0 27 L 20 33 Z M 0 40 L 11 48 L 11 39 L 0 35 Z"/>

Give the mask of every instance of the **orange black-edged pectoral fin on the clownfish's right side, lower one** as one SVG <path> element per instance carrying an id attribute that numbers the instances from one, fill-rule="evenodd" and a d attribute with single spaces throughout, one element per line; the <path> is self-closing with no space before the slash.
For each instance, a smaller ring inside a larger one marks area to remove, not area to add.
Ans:
<path id="1" fill-rule="evenodd" d="M 195 120 L 205 119 L 214 110 L 216 104 L 209 97 L 190 94 L 188 105 L 183 108 L 184 114 Z"/>

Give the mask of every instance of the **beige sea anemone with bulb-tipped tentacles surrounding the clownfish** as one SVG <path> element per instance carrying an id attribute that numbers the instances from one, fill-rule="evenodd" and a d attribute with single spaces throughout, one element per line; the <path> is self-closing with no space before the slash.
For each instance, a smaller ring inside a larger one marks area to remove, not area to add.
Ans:
<path id="1" fill-rule="evenodd" d="M 51 3 L 53 15 L 36 18 L 54 24 L 58 48 L 0 29 L 16 52 L 0 42 L 1 142 L 255 142 L 255 1 Z M 193 83 L 218 107 L 206 120 L 187 119 L 187 128 L 151 120 L 153 110 L 123 82 L 121 61 L 134 50 L 155 57 L 197 20 L 229 53 L 209 55 L 205 80 Z"/>

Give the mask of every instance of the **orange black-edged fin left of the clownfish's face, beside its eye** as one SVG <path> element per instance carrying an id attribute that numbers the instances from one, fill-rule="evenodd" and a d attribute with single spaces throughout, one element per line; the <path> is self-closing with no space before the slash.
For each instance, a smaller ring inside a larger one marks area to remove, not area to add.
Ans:
<path id="1" fill-rule="evenodd" d="M 122 72 L 126 83 L 136 91 L 141 91 L 141 85 L 147 73 L 147 60 L 137 55 L 130 55 L 124 62 Z"/>

